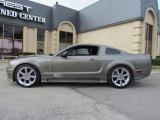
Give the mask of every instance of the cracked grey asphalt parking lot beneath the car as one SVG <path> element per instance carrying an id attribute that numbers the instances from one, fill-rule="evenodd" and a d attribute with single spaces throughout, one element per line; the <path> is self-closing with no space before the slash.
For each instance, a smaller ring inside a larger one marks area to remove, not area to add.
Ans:
<path id="1" fill-rule="evenodd" d="M 21 88 L 7 81 L 0 63 L 0 120 L 159 120 L 160 74 L 127 89 L 105 84 L 41 84 Z"/>

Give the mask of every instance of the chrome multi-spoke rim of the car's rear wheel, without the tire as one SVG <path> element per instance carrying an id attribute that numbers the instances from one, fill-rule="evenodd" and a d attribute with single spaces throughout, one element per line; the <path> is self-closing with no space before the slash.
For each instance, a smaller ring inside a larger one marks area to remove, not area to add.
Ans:
<path id="1" fill-rule="evenodd" d="M 118 87 L 124 87 L 130 82 L 130 72 L 123 67 L 117 68 L 112 72 L 112 82 Z"/>

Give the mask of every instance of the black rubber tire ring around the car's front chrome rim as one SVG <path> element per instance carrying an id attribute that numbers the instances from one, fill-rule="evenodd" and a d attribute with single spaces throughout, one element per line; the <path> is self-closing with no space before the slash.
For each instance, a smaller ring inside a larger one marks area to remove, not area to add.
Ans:
<path id="1" fill-rule="evenodd" d="M 17 79 L 17 73 L 18 73 L 18 71 L 19 71 L 21 68 L 23 68 L 23 67 L 30 67 L 30 68 L 32 68 L 32 69 L 35 71 L 35 73 L 36 73 L 36 80 L 35 80 L 34 83 L 31 84 L 30 86 L 22 85 L 22 84 L 18 81 L 18 79 Z M 20 85 L 21 87 L 30 88 L 30 87 L 36 86 L 38 83 L 40 83 L 40 81 L 41 81 L 40 72 L 39 72 L 39 70 L 38 70 L 35 66 L 33 66 L 33 65 L 23 64 L 23 65 L 20 65 L 20 66 L 15 70 L 15 72 L 14 72 L 14 80 L 15 80 L 16 83 L 17 83 L 18 85 Z"/>

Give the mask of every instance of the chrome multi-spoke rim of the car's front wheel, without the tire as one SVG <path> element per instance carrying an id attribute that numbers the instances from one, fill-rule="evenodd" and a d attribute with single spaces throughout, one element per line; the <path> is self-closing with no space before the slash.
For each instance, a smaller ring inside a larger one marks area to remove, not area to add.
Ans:
<path id="1" fill-rule="evenodd" d="M 31 86 L 36 81 L 36 72 L 33 68 L 25 66 L 18 70 L 17 80 L 23 86 Z"/>

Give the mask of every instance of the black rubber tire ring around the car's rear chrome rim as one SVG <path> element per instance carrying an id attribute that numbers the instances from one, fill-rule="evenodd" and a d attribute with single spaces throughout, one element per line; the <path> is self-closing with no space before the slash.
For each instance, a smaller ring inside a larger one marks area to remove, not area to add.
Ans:
<path id="1" fill-rule="evenodd" d="M 120 87 L 120 86 L 117 86 L 117 85 L 115 85 L 115 84 L 113 83 L 113 81 L 112 81 L 112 73 L 113 73 L 113 71 L 114 71 L 115 69 L 117 69 L 117 68 L 125 68 L 125 69 L 127 69 L 127 70 L 129 71 L 130 80 L 129 80 L 129 82 L 128 82 L 127 85 Z M 131 81 L 132 81 L 132 78 L 133 78 L 132 71 L 131 71 L 128 67 L 126 67 L 126 66 L 119 65 L 119 66 L 113 67 L 113 68 L 110 70 L 110 72 L 109 72 L 109 74 L 108 74 L 108 83 L 109 83 L 109 85 L 111 85 L 111 86 L 113 86 L 113 87 L 115 87 L 115 88 L 122 89 L 122 88 L 126 88 L 126 87 L 128 87 L 128 86 L 130 85 L 130 83 L 131 83 Z"/>

